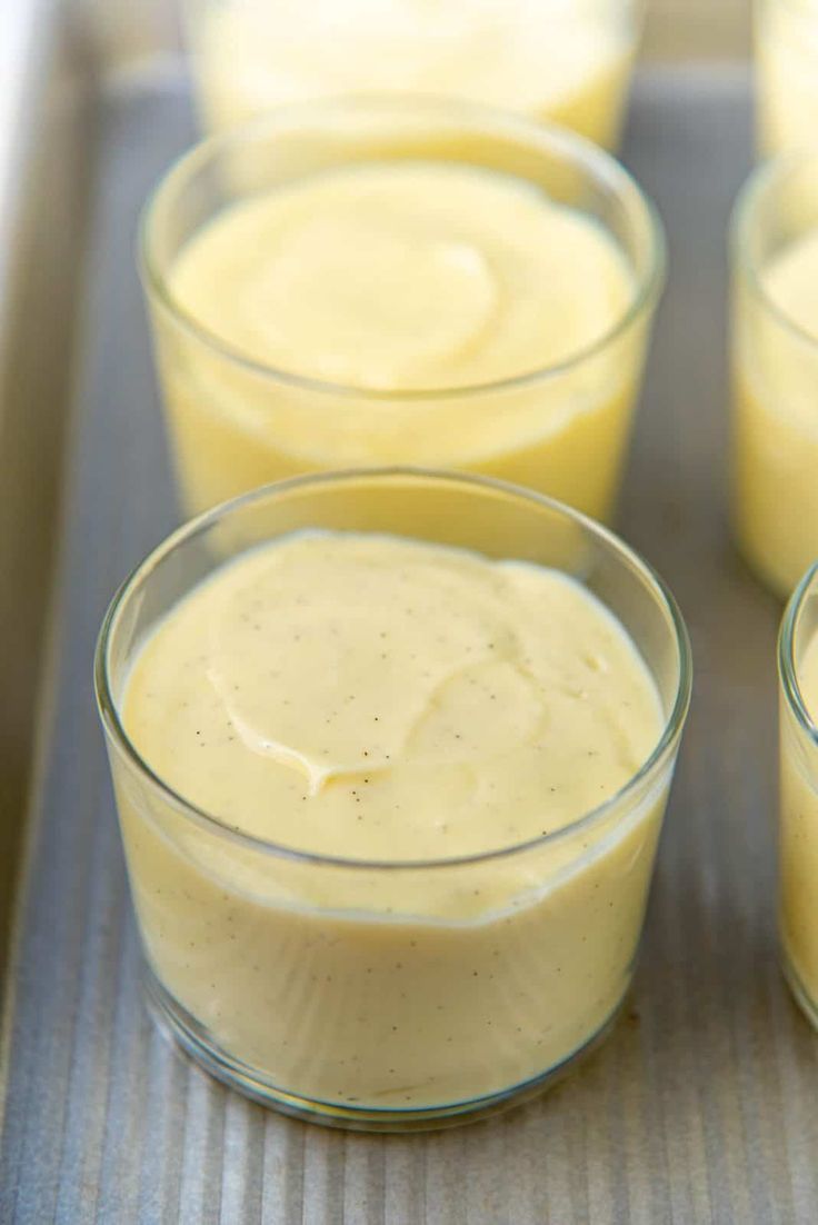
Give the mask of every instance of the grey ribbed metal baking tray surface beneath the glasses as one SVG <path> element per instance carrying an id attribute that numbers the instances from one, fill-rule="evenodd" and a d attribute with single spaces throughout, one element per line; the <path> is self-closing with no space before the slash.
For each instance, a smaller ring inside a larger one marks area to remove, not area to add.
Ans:
<path id="1" fill-rule="evenodd" d="M 192 137 L 185 82 L 104 88 L 78 293 L 53 642 L 5 996 L 2 1225 L 814 1221 L 818 1039 L 775 947 L 780 605 L 725 513 L 725 233 L 748 77 L 653 70 L 625 158 L 670 281 L 620 529 L 674 587 L 697 665 L 629 1011 L 576 1076 L 493 1121 L 344 1136 L 244 1101 L 142 1006 L 91 659 L 104 606 L 175 508 L 133 271 L 138 207 Z M 92 134 L 92 142 L 88 134 Z"/>

